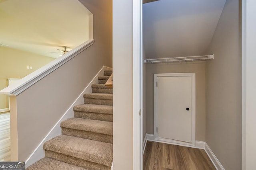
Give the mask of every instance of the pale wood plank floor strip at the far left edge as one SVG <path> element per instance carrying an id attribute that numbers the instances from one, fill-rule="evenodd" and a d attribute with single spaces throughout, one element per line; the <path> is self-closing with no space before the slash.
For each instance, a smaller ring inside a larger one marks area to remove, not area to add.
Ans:
<path id="1" fill-rule="evenodd" d="M 0 114 L 0 162 L 11 161 L 10 113 Z"/>

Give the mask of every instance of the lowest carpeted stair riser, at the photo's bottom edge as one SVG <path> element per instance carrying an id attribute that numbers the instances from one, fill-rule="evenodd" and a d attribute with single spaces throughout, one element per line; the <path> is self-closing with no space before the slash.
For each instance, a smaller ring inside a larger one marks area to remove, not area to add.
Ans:
<path id="1" fill-rule="evenodd" d="M 53 158 L 62 162 L 66 162 L 69 164 L 73 164 L 76 166 L 80 166 L 82 168 L 90 169 L 90 170 L 111 170 L 110 166 L 105 166 L 102 164 L 97 164 L 95 162 L 90 162 L 87 160 L 83 160 L 80 158 L 76 158 L 73 156 L 68 156 L 65 154 L 60 154 L 57 152 L 52 152 L 50 150 L 45 150 L 45 156 L 48 158 Z"/>

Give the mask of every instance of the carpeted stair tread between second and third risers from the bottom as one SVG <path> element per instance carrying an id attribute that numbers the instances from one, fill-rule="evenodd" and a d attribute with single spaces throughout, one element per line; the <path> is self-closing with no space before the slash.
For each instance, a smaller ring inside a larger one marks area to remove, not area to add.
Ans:
<path id="1" fill-rule="evenodd" d="M 62 121 L 60 123 L 60 126 L 70 129 L 113 135 L 113 123 L 109 121 L 72 117 L 70 119 Z"/>

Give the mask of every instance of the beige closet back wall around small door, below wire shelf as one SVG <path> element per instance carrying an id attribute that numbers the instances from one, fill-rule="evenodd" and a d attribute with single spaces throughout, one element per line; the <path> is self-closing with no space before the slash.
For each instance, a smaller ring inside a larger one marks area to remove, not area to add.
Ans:
<path id="1" fill-rule="evenodd" d="M 207 61 L 211 62 L 211 61 Z M 196 72 L 196 140 L 205 141 L 205 63 L 206 62 L 186 62 L 186 63 L 158 63 L 144 64 L 146 66 L 146 128 L 147 133 L 154 133 L 154 89 L 153 74 L 154 73 L 182 73 Z M 144 122 L 145 123 L 145 122 Z"/>

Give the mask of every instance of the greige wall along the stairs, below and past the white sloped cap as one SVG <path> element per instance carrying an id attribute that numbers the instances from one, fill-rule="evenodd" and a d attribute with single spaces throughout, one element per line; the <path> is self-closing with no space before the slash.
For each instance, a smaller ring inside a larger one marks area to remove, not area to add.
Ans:
<path id="1" fill-rule="evenodd" d="M 94 14 L 95 42 L 17 96 L 19 161 L 30 156 L 102 66 L 112 66 L 112 1 L 81 2 Z"/>

